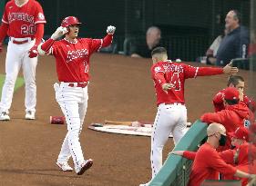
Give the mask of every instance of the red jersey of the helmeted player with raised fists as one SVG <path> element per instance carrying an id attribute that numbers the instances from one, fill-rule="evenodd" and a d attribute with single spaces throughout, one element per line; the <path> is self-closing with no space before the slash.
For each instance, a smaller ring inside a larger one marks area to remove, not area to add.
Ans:
<path id="1" fill-rule="evenodd" d="M 56 72 L 59 82 L 83 83 L 89 79 L 89 57 L 101 47 L 112 42 L 113 35 L 104 39 L 79 38 L 75 43 L 67 39 L 56 41 L 47 54 L 56 57 Z"/>

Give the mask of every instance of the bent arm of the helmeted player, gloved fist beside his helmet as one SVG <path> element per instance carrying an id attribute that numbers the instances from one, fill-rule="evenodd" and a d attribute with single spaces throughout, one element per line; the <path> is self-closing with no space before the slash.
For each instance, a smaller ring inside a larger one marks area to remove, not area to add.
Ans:
<path id="1" fill-rule="evenodd" d="M 50 50 L 51 46 L 55 43 L 55 41 L 62 35 L 67 34 L 67 32 L 68 31 L 66 27 L 62 27 L 62 26 L 58 27 L 56 29 L 56 32 L 52 34 L 50 39 L 46 40 L 45 43 L 38 45 L 37 47 L 38 53 L 40 55 L 46 54 Z"/>

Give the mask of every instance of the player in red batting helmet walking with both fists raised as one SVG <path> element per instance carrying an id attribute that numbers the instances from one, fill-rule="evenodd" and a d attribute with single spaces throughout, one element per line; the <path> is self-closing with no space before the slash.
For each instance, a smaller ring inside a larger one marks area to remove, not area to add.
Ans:
<path id="1" fill-rule="evenodd" d="M 87 113 L 87 85 L 89 80 L 89 57 L 101 47 L 111 44 L 115 26 L 108 26 L 104 39 L 77 38 L 79 21 L 68 16 L 56 32 L 44 44 L 39 44 L 39 54 L 51 54 L 56 58 L 55 83 L 56 102 L 59 103 L 67 121 L 67 135 L 61 147 L 56 164 L 62 171 L 72 171 L 67 164 L 72 156 L 78 175 L 89 169 L 93 161 L 84 159 L 79 134 Z M 56 41 L 65 34 L 65 38 Z"/>

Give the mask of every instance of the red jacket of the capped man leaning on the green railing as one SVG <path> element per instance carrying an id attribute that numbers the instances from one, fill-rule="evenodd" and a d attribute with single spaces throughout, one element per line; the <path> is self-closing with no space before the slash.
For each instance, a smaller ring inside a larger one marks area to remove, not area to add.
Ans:
<path id="1" fill-rule="evenodd" d="M 235 132 L 238 127 L 243 127 L 247 120 L 249 120 L 249 108 L 245 103 L 238 103 L 228 105 L 226 108 L 218 113 L 204 113 L 200 120 L 202 122 L 218 122 L 223 124 L 226 132 Z M 218 151 L 230 149 L 231 139 L 228 136 L 226 145 L 218 148 Z"/>

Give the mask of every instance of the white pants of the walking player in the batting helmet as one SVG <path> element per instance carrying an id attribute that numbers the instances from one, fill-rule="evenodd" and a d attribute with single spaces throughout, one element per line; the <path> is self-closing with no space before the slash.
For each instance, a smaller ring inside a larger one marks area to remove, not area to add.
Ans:
<path id="1" fill-rule="evenodd" d="M 87 87 L 70 87 L 68 83 L 55 83 L 56 102 L 60 105 L 67 122 L 67 135 L 62 143 L 57 162 L 67 162 L 72 156 L 75 170 L 85 161 L 79 142 L 87 113 Z"/>

